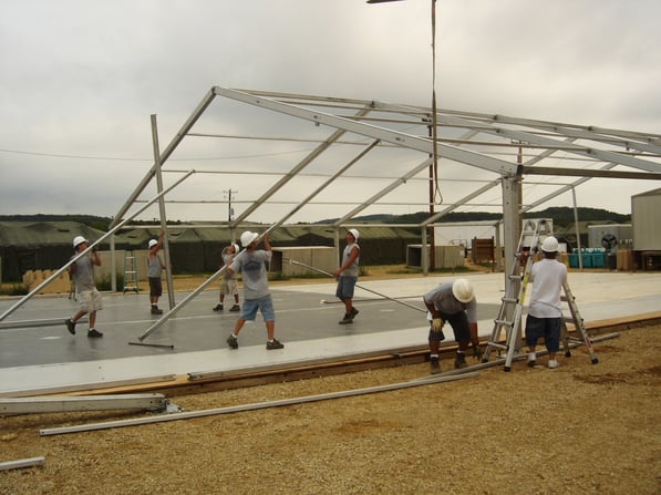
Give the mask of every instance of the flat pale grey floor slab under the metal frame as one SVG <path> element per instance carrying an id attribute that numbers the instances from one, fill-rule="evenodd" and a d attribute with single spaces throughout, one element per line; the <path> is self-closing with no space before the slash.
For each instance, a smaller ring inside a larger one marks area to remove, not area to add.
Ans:
<path id="1" fill-rule="evenodd" d="M 490 334 L 503 297 L 504 275 L 469 275 L 478 299 L 479 333 Z M 368 289 L 420 309 L 357 290 L 360 314 L 340 326 L 342 306 L 334 283 L 273 286 L 276 336 L 283 350 L 267 351 L 261 317 L 248 322 L 239 349 L 225 342 L 237 313 L 211 310 L 217 292 L 204 291 L 143 342 L 174 349 L 132 346 L 151 327 L 146 293 L 105 295 L 96 327 L 103 339 L 89 339 L 86 323 L 71 336 L 63 323 L 76 311 L 66 297 L 38 297 L 0 322 L 0 394 L 111 386 L 134 381 L 168 380 L 197 372 L 227 372 L 254 367 L 303 364 L 354 354 L 424 346 L 427 336 L 422 293 L 451 277 L 360 281 Z M 661 311 L 661 275 L 654 272 L 572 272 L 569 283 L 586 322 Z M 176 293 L 177 301 L 185 293 Z M 164 303 L 167 298 L 163 298 Z M 16 299 L 0 300 L 0 312 Z M 29 323 L 29 324 L 28 324 Z M 446 331 L 452 338 L 452 331 Z"/>

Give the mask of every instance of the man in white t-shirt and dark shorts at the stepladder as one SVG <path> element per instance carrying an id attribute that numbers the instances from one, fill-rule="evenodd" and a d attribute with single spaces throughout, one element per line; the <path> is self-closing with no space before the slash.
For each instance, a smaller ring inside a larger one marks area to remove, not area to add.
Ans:
<path id="1" fill-rule="evenodd" d="M 560 291 L 567 282 L 567 266 L 558 261 L 558 239 L 548 236 L 541 243 L 543 259 L 533 264 L 528 281 L 533 283 L 528 316 L 526 318 L 526 344 L 528 365 L 537 363 L 535 347 L 544 339 L 548 351 L 548 367 L 558 368 L 556 353 L 560 349 L 562 310 Z"/>

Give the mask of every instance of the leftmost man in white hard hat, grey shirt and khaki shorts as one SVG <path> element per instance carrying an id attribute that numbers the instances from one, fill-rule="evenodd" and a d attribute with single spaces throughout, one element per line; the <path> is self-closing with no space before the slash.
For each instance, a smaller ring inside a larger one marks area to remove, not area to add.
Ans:
<path id="1" fill-rule="evenodd" d="M 75 250 L 75 255 L 72 256 L 72 259 L 87 249 L 87 239 L 83 236 L 74 237 L 73 249 Z M 85 256 L 81 256 L 69 267 L 69 275 L 75 286 L 76 300 L 80 305 L 79 311 L 73 317 L 64 320 L 64 324 L 66 324 L 66 329 L 72 336 L 75 336 L 75 323 L 78 320 L 89 313 L 90 328 L 87 330 L 87 337 L 103 337 L 103 333 L 94 328 L 96 324 L 96 311 L 103 309 L 101 293 L 99 293 L 94 283 L 95 266 L 101 266 L 101 258 L 94 247 L 92 251 L 87 252 Z"/>

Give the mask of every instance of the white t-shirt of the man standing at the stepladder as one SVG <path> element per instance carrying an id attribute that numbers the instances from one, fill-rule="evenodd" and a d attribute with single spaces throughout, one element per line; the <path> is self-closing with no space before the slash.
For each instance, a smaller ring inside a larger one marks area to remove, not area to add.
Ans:
<path id="1" fill-rule="evenodd" d="M 560 289 L 567 281 L 567 267 L 555 259 L 545 258 L 530 267 L 533 283 L 528 314 L 536 318 L 559 318 Z"/>

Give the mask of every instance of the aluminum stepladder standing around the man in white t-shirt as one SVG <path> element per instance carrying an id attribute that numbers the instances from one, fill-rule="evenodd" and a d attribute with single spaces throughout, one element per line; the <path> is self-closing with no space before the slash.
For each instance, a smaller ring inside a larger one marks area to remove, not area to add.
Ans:
<path id="1" fill-rule="evenodd" d="M 530 268 L 533 267 L 531 258 L 538 252 L 544 238 L 550 235 L 550 228 L 545 219 L 525 221 L 519 244 L 514 255 L 514 267 L 506 279 L 505 297 L 502 299 L 498 316 L 494 320 L 494 328 L 482 358 L 483 363 L 488 361 L 492 351 L 497 350 L 498 357 L 504 359 L 504 371 L 512 370 L 512 361 L 521 347 L 521 319 L 526 288 L 530 276 Z M 567 302 L 571 314 L 571 318 L 562 316 L 565 355 L 571 355 L 569 352 L 569 341 L 571 338 L 566 330 L 566 321 L 571 321 L 581 341 L 587 346 L 592 363 L 597 363 L 598 360 L 595 355 L 592 343 L 587 336 L 583 320 L 578 311 L 576 300 L 568 283 L 564 285 L 564 290 L 565 297 L 560 299 Z M 502 340 L 503 332 L 505 332 L 504 341 Z M 505 358 L 503 358 L 503 351 Z"/>

